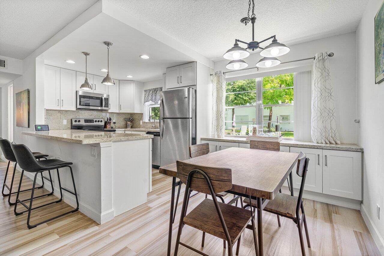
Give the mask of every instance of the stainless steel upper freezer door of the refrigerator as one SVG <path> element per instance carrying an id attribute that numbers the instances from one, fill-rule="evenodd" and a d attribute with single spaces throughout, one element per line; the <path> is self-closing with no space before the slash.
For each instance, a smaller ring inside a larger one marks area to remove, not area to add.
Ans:
<path id="1" fill-rule="evenodd" d="M 192 117 L 192 88 L 162 91 L 160 96 L 160 117 Z"/>

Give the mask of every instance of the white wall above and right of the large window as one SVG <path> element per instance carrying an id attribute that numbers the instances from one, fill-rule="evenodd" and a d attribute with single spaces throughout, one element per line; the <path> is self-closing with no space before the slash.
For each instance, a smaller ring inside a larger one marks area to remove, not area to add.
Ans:
<path id="1" fill-rule="evenodd" d="M 356 143 L 357 127 L 353 122 L 353 120 L 356 119 L 356 33 L 352 32 L 331 36 L 306 43 L 289 45 L 289 47 L 291 48 L 291 51 L 288 54 L 279 57 L 282 62 L 310 58 L 321 51 L 333 52 L 335 54 L 332 58 L 329 58 L 329 64 L 331 66 L 331 78 L 336 101 L 336 125 L 342 143 Z M 259 59 L 261 59 L 260 54 L 254 53 L 244 60 L 248 63 L 248 67 L 254 67 Z M 215 62 L 214 70 L 229 71 L 225 68 L 227 63 L 228 60 Z M 227 73 L 227 78 L 247 74 L 259 74 L 258 76 L 256 75 L 253 77 L 260 77 L 260 73 L 278 69 L 287 69 L 289 72 L 304 71 L 308 70 L 308 65 L 311 65 L 312 63 L 312 60 L 298 61 L 289 64 L 281 64 L 269 69 L 260 68 L 259 71 L 257 71 L 257 69 L 237 71 Z M 300 69 L 300 67 L 302 68 Z M 288 72 L 281 71 L 280 73 Z"/>

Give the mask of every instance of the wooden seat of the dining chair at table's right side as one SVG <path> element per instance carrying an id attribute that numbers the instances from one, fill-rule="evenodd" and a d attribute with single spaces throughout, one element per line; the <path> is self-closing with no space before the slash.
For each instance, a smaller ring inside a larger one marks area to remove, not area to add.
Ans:
<path id="1" fill-rule="evenodd" d="M 278 193 L 273 200 L 267 203 L 267 205 L 264 207 L 264 210 L 289 218 L 295 218 L 297 200 L 298 197 L 292 197 L 291 195 Z M 243 201 L 244 203 L 250 205 L 248 198 L 245 198 Z M 257 208 L 256 200 L 251 199 L 251 201 L 252 207 Z"/>

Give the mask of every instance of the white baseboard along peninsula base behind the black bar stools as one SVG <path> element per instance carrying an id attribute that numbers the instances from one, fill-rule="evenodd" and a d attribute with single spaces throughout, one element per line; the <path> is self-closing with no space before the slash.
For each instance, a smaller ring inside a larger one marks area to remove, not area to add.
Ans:
<path id="1" fill-rule="evenodd" d="M 19 166 L 16 167 L 16 170 L 18 170 L 19 172 L 22 171 L 22 169 Z M 35 178 L 35 175 L 33 173 L 24 172 L 24 175 L 27 176 L 28 178 L 30 178 L 31 180 L 33 180 Z M 38 185 L 42 184 L 40 175 L 36 178 L 36 183 Z M 51 185 L 49 182 L 47 182 L 47 180 L 45 181 L 45 185 L 46 186 L 44 186 L 44 187 L 48 191 L 51 191 Z M 55 197 L 57 197 L 57 198 L 60 198 L 59 188 L 54 187 L 53 195 L 55 195 Z M 74 197 L 74 195 L 72 195 L 72 194 L 70 194 L 64 190 L 63 190 L 63 201 L 65 201 L 66 203 L 68 203 L 68 205 L 70 205 L 72 207 L 76 207 L 76 198 Z M 95 209 L 93 209 L 92 207 L 81 202 L 80 200 L 79 200 L 79 211 L 81 211 L 82 213 L 84 213 L 84 215 L 88 216 L 89 218 L 91 218 L 92 220 L 96 221 L 99 224 L 102 224 L 106 221 L 112 220 L 114 217 L 114 210 L 113 209 L 108 210 L 104 213 L 100 213 L 100 212 L 96 211 Z"/>

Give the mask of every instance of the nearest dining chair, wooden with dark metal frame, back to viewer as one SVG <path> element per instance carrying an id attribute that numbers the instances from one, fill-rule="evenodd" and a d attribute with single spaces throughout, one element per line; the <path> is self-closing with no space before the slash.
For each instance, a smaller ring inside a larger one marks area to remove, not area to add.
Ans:
<path id="1" fill-rule="evenodd" d="M 255 220 L 252 207 L 250 211 L 221 203 L 217 201 L 216 194 L 230 190 L 232 188 L 232 170 L 229 168 L 206 167 L 194 165 L 182 161 L 176 162 L 177 177 L 185 184 L 183 205 L 181 208 L 179 229 L 175 244 L 174 255 L 177 255 L 179 244 L 195 251 L 196 253 L 207 255 L 185 243 L 180 242 L 180 237 L 184 225 L 191 226 L 208 233 L 228 243 L 228 255 L 232 256 L 233 245 L 237 242 L 236 255 L 240 248 L 240 239 L 243 231 L 252 222 L 254 243 L 255 243 Z M 191 190 L 210 194 L 212 200 L 205 198 L 190 213 L 187 213 L 189 194 Z M 255 243 L 257 251 L 257 244 Z"/>

